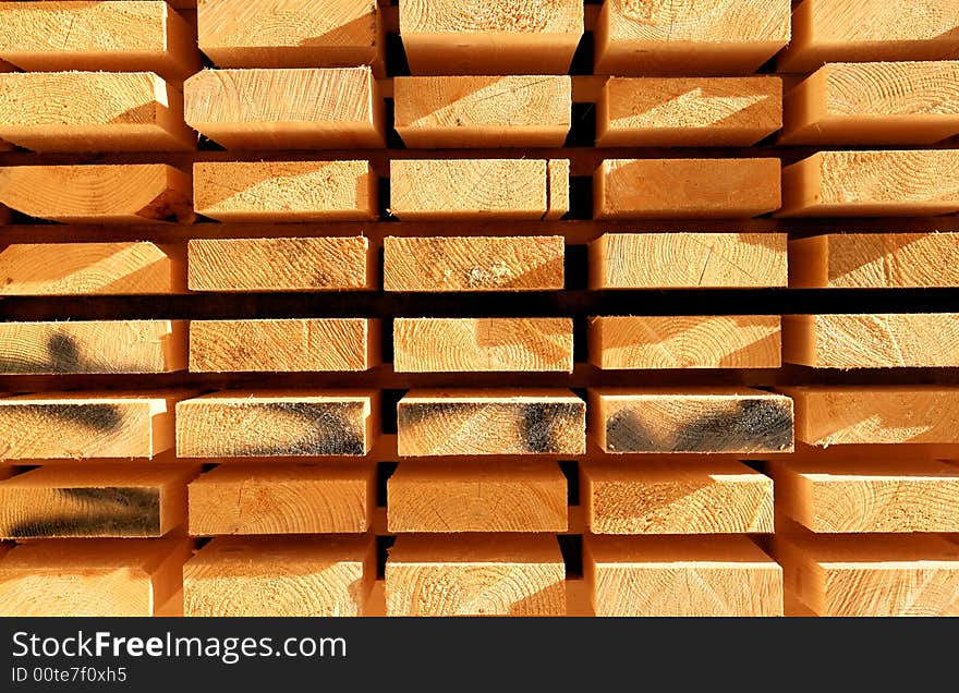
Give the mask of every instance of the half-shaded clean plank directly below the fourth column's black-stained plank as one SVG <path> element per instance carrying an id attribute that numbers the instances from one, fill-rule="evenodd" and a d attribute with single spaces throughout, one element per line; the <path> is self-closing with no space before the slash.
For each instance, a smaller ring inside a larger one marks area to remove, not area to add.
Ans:
<path id="1" fill-rule="evenodd" d="M 773 532 L 773 479 L 741 462 L 588 462 L 581 474 L 593 534 Z"/>

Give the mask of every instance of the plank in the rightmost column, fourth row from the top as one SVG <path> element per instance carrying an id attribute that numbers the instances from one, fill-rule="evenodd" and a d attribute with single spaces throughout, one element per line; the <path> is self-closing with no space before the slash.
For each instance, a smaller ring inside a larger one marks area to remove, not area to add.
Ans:
<path id="1" fill-rule="evenodd" d="M 789 241 L 789 285 L 959 287 L 959 233 L 825 233 Z"/>

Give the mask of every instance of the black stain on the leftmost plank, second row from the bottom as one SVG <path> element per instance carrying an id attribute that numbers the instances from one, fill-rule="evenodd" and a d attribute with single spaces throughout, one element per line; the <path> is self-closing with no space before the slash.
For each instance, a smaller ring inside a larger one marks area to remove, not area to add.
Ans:
<path id="1" fill-rule="evenodd" d="M 62 536 L 158 536 L 160 494 L 153 488 L 58 488 L 92 512 L 31 518 L 10 527 L 14 539 Z"/>

